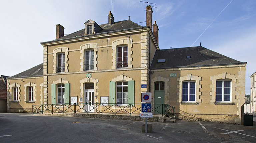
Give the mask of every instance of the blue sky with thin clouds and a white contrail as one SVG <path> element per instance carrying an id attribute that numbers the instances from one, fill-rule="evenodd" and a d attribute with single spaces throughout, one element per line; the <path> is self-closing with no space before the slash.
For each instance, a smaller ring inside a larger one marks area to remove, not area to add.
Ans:
<path id="1" fill-rule="evenodd" d="M 160 49 L 199 46 L 201 42 L 212 51 L 248 62 L 246 94 L 250 94 L 249 76 L 256 71 L 255 0 L 148 2 L 156 4 L 152 5 L 156 7 L 153 7 L 153 21 L 159 27 Z M 135 23 L 144 22 L 146 6 L 139 0 L 113 0 L 114 21 L 127 20 L 130 16 Z M 0 75 L 13 76 L 43 63 L 40 42 L 56 38 L 56 24 L 65 27 L 64 34 L 70 34 L 83 29 L 88 19 L 107 23 L 109 10 L 111 0 L 1 1 Z"/>

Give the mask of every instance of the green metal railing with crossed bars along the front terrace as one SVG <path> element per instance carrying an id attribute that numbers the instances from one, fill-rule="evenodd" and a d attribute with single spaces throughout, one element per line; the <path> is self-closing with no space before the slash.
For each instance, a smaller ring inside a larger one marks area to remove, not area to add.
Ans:
<path id="1" fill-rule="evenodd" d="M 174 108 L 168 104 L 152 104 L 152 112 L 160 114 L 164 118 L 174 119 Z M 116 103 L 63 103 L 32 105 L 34 113 L 110 113 L 110 114 L 140 114 L 141 104 L 120 105 Z"/>

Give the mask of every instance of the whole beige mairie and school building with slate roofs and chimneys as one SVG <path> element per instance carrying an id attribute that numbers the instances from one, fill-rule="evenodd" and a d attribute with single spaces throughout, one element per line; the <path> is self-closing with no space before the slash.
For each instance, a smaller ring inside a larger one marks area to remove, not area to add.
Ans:
<path id="1" fill-rule="evenodd" d="M 8 111 L 73 99 L 139 108 L 141 93 L 151 92 L 152 103 L 174 106 L 181 119 L 240 123 L 246 62 L 202 46 L 160 50 L 152 13 L 147 6 L 147 26 L 114 22 L 111 12 L 108 23 L 88 20 L 67 36 L 56 25 L 56 39 L 41 43 L 43 64 L 8 78 Z"/>

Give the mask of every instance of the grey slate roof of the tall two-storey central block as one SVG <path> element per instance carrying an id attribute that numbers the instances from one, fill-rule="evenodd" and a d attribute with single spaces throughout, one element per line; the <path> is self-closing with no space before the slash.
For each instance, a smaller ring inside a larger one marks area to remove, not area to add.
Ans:
<path id="1" fill-rule="evenodd" d="M 118 21 L 118 22 L 114 22 L 113 24 L 109 25 L 108 23 L 106 24 L 102 24 L 99 25 L 103 30 L 99 31 L 96 34 L 101 34 L 101 33 L 106 33 L 106 32 L 114 32 L 114 31 L 118 31 L 118 30 L 127 30 L 127 29 L 133 29 L 133 28 L 140 28 L 143 26 L 140 26 L 130 20 L 124 20 L 124 21 Z M 91 35 L 96 35 L 96 34 L 90 34 L 90 35 L 84 35 L 85 33 L 85 28 L 82 30 L 79 30 L 77 32 L 71 33 L 69 35 L 66 35 L 64 37 L 55 39 L 53 41 L 61 41 L 64 39 L 72 39 L 72 38 L 76 38 L 76 37 L 81 37 L 81 36 L 91 36 Z M 53 41 L 48 41 L 48 42 L 53 42 Z M 42 42 L 43 43 L 48 43 L 48 42 Z"/>

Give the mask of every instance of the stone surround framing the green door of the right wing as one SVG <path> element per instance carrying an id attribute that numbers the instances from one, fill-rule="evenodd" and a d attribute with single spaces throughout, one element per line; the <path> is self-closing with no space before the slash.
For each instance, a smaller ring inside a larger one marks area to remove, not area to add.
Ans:
<path id="1" fill-rule="evenodd" d="M 154 100 L 154 83 L 155 82 L 159 82 L 159 81 L 163 81 L 164 82 L 164 103 L 165 104 L 168 104 L 169 103 L 169 99 L 168 99 L 168 96 L 169 96 L 169 92 L 168 92 L 168 89 L 169 89 L 169 85 L 168 85 L 168 82 L 169 82 L 169 78 L 166 78 L 166 77 L 163 77 L 161 75 L 155 75 L 154 78 L 152 78 L 151 80 L 151 93 L 152 94 L 152 98 Z M 152 101 L 153 102 L 153 101 Z"/>

